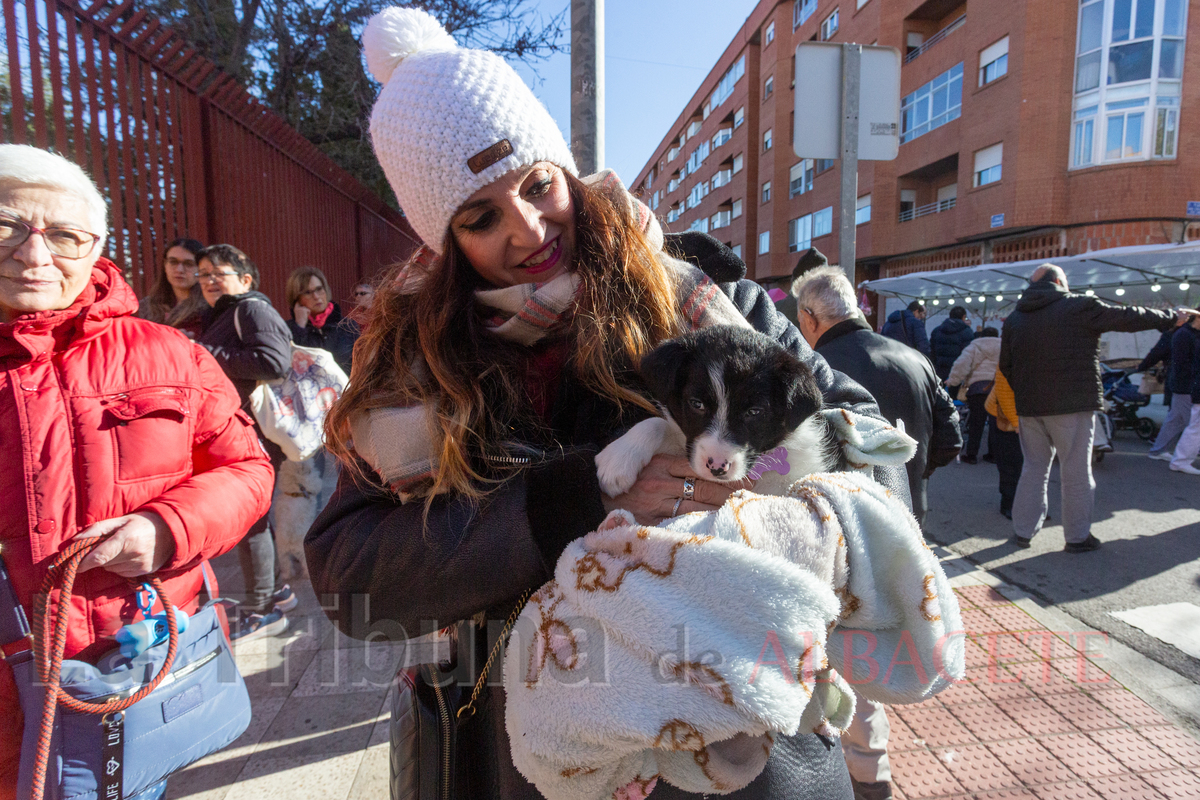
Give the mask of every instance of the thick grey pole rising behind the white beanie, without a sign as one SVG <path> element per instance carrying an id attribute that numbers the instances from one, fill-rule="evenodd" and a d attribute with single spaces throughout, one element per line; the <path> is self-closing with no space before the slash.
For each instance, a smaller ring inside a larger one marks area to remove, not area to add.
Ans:
<path id="1" fill-rule="evenodd" d="M 571 0 L 571 155 L 604 169 L 604 0 Z"/>

